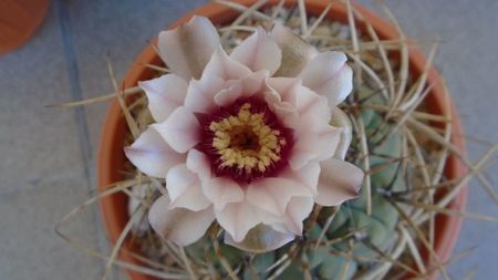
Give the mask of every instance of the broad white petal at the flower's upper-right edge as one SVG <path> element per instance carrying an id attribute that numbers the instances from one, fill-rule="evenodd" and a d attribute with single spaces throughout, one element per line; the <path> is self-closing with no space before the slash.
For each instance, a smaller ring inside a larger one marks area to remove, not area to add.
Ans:
<path id="1" fill-rule="evenodd" d="M 304 86 L 326 96 L 335 107 L 353 89 L 353 71 L 342 52 L 323 52 L 308 62 L 300 76 Z"/>

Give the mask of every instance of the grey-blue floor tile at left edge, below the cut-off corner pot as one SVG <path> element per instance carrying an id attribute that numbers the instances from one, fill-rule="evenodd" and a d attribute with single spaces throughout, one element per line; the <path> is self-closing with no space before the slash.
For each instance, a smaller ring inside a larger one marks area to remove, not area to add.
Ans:
<path id="1" fill-rule="evenodd" d="M 0 194 L 81 170 L 74 112 L 44 107 L 68 101 L 61 53 L 59 25 L 51 10 L 27 45 L 0 59 Z"/>

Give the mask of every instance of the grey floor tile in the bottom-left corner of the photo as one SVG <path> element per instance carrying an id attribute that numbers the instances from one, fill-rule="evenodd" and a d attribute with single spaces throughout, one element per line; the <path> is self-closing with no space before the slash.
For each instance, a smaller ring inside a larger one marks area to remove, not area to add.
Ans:
<path id="1" fill-rule="evenodd" d="M 80 252 L 54 232 L 54 225 L 89 197 L 81 176 L 45 180 L 0 195 L 0 279 L 98 279 L 103 262 Z M 96 208 L 64 224 L 63 232 L 94 247 Z"/>

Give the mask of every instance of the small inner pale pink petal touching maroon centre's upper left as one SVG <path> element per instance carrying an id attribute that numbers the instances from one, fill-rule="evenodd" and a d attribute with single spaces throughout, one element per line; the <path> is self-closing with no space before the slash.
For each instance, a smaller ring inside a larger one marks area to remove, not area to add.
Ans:
<path id="1" fill-rule="evenodd" d="M 216 108 L 215 95 L 227 86 L 225 80 L 204 75 L 201 80 L 193 80 L 188 84 L 185 106 L 196 113 L 208 114 Z"/>

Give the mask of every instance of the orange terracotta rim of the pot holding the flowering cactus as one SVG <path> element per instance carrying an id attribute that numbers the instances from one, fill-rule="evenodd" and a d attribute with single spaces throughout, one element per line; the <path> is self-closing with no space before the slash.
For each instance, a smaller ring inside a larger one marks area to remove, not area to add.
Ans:
<path id="1" fill-rule="evenodd" d="M 237 2 L 250 6 L 256 0 L 238 0 Z M 277 4 L 278 0 L 270 0 L 268 4 Z M 288 4 L 293 4 L 294 1 L 287 1 Z M 307 0 L 307 10 L 310 14 L 319 15 L 328 4 L 328 1 L 321 0 Z M 373 14 L 367 9 L 355 4 L 355 8 L 361 11 L 363 17 L 373 25 L 381 39 L 392 40 L 397 39 L 397 33 L 392 25 L 384 20 Z M 232 21 L 238 12 L 235 12 L 224 6 L 209 3 L 198 10 L 195 10 L 174 24 L 170 28 L 175 28 L 180 23 L 187 22 L 193 14 L 205 15 L 209 18 L 215 24 L 228 23 Z M 341 22 L 347 22 L 346 9 L 341 2 L 336 2 L 332 6 L 328 18 L 334 19 Z M 365 29 L 361 23 L 356 23 L 359 29 Z M 154 41 L 153 43 L 156 43 Z M 412 73 L 419 75 L 425 65 L 424 54 L 415 50 L 409 49 L 409 62 Z M 160 59 L 156 55 L 153 48 L 148 45 L 135 60 L 129 71 L 127 72 L 124 84 L 126 87 L 135 86 L 138 81 L 149 80 L 154 76 L 155 72 L 144 66 L 145 63 L 156 64 L 160 63 Z M 465 142 L 459 135 L 463 135 L 461 126 L 457 112 L 449 101 L 449 96 L 446 94 L 443 81 L 439 77 L 436 70 L 432 69 L 428 75 L 428 84 L 433 85 L 430 93 L 427 95 L 428 111 L 432 113 L 446 114 L 449 113 L 453 118 L 453 136 L 452 143 L 458 147 L 458 149 L 465 154 Z M 112 183 L 123 179 L 120 170 L 124 169 L 125 155 L 123 153 L 123 138 L 126 134 L 126 124 L 122 115 L 117 101 L 112 102 L 108 107 L 107 116 L 102 134 L 102 141 L 98 154 L 98 189 L 101 191 L 106 189 Z M 466 172 L 465 166 L 453 155 L 447 158 L 445 175 L 448 178 L 455 178 L 463 176 Z M 467 200 L 467 188 L 463 188 L 455 199 L 448 206 L 452 209 L 464 210 Z M 115 194 L 105 197 L 101 200 L 102 214 L 104 217 L 105 228 L 107 230 L 108 238 L 114 242 L 120 236 L 122 229 L 128 221 L 127 215 L 127 197 L 124 194 Z M 455 246 L 460 228 L 461 218 L 457 216 L 444 216 L 438 215 L 436 217 L 436 236 L 435 236 L 435 250 L 442 262 L 448 260 L 449 255 Z M 124 245 L 128 249 L 129 243 Z M 139 265 L 139 262 L 132 258 L 128 253 L 121 253 L 120 256 L 124 261 Z M 428 258 L 425 258 L 428 259 Z M 135 271 L 127 271 L 134 280 L 151 280 L 154 279 Z M 435 272 L 432 278 L 436 278 Z"/>

